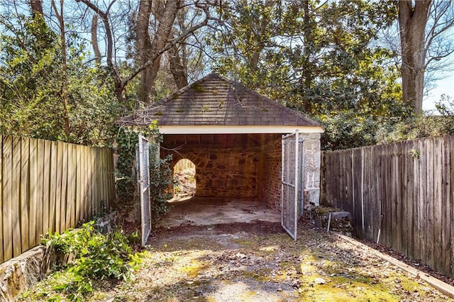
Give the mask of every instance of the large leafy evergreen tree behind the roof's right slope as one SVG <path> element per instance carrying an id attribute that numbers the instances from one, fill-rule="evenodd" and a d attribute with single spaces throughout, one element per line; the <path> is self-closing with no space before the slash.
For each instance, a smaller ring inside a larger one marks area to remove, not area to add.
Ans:
<path id="1" fill-rule="evenodd" d="M 375 43 L 395 9 L 368 1 L 238 1 L 212 38 L 217 69 L 311 116 L 402 113 L 393 53 Z"/>

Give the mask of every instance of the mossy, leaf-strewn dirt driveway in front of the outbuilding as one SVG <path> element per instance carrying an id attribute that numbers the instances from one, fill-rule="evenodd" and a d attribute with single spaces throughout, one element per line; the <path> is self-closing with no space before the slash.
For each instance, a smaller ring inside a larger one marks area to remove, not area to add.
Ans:
<path id="1" fill-rule="evenodd" d="M 135 281 L 99 301 L 448 301 L 370 250 L 307 225 L 294 242 L 279 223 L 163 228 Z"/>

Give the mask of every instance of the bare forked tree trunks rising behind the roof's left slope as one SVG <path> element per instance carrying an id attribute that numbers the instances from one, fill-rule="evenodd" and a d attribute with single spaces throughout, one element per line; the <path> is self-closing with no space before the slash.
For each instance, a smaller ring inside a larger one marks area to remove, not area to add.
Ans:
<path id="1" fill-rule="evenodd" d="M 160 57 L 164 52 L 170 50 L 177 43 L 182 42 L 189 35 L 192 35 L 206 26 L 211 20 L 210 9 L 214 5 L 209 1 L 199 1 L 194 0 L 193 6 L 196 14 L 201 14 L 204 18 L 201 18 L 199 23 L 194 24 L 191 28 L 188 28 L 180 35 L 170 39 L 170 32 L 175 21 L 177 12 L 182 9 L 182 1 L 140 1 L 138 6 L 138 15 L 137 15 L 137 28 L 136 37 L 138 38 L 137 50 L 139 53 L 139 60 L 137 64 L 132 68 L 131 72 L 123 75 L 120 71 L 121 62 L 116 60 L 116 46 L 115 43 L 115 30 L 113 24 L 111 23 L 111 9 L 114 6 L 115 0 L 111 1 L 106 9 L 101 9 L 94 1 L 90 0 L 76 0 L 77 2 L 82 2 L 85 6 L 91 9 L 96 13 L 104 25 L 104 32 L 106 35 L 106 62 L 111 72 L 111 76 L 114 79 L 115 85 L 115 95 L 118 101 L 124 102 L 123 92 L 128 85 L 135 77 L 138 77 L 140 74 L 141 83 L 140 83 L 140 100 L 143 103 L 148 104 L 150 102 L 150 94 L 152 92 L 155 77 L 157 70 L 160 67 Z M 149 36 L 150 30 L 148 24 L 150 23 L 150 16 L 153 11 L 152 4 L 155 4 L 155 21 L 157 23 L 157 28 L 153 33 L 153 38 Z M 189 4 L 185 4 L 189 6 Z M 139 38 L 140 36 L 140 38 Z"/>

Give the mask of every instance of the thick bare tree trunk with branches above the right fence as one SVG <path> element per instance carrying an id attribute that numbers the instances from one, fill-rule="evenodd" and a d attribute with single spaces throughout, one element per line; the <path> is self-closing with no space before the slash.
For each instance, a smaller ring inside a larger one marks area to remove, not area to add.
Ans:
<path id="1" fill-rule="evenodd" d="M 443 41 L 454 25 L 453 2 L 400 0 L 397 6 L 402 97 L 415 113 L 421 113 L 426 70 L 454 52 L 454 47 Z"/>

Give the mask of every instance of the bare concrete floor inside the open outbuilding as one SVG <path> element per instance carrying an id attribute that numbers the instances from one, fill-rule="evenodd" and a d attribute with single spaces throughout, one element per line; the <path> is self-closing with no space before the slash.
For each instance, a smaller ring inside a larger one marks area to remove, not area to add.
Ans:
<path id="1" fill-rule="evenodd" d="M 253 199 L 192 197 L 172 199 L 170 206 L 170 213 L 160 221 L 163 227 L 281 221 L 275 209 Z"/>

